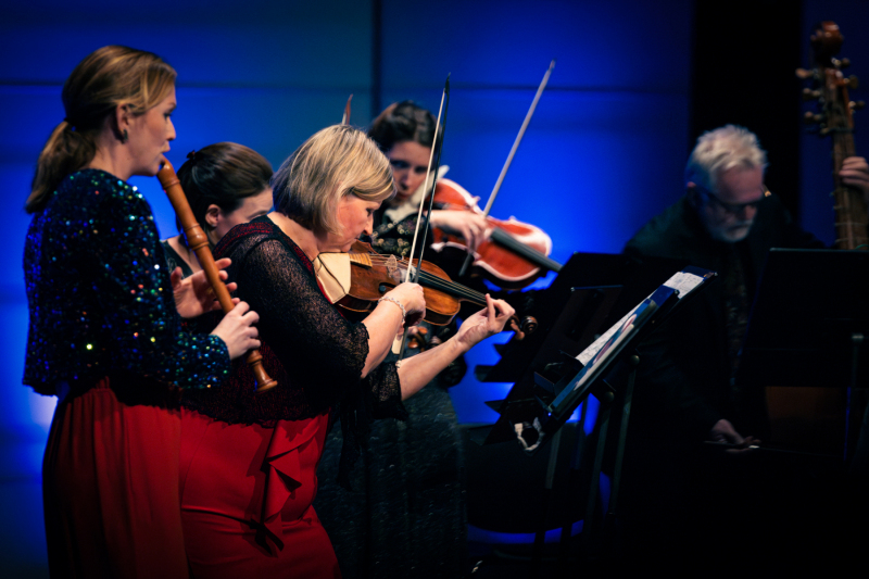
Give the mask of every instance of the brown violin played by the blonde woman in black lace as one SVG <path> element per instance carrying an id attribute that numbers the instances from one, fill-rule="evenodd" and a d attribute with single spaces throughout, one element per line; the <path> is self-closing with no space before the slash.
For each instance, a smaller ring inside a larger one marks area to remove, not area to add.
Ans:
<path id="1" fill-rule="evenodd" d="M 407 260 L 380 255 L 364 241 L 354 242 L 348 256 L 351 264 L 350 288 L 335 303 L 350 312 L 367 314 L 373 311 L 377 307 L 377 301 L 401 284 L 407 272 Z M 418 265 L 419 260 L 414 260 L 414 268 Z M 430 262 L 423 262 L 417 282 L 423 286 L 426 322 L 431 325 L 449 324 L 458 313 L 463 301 L 486 307 L 486 295 L 452 281 L 443 269 Z M 537 329 L 537 320 L 530 316 L 521 320 L 514 318 L 511 324 L 519 337 Z"/>

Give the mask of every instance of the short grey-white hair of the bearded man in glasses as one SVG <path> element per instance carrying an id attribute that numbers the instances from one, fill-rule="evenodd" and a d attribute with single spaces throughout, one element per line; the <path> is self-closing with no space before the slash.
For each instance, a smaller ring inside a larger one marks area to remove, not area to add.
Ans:
<path id="1" fill-rule="evenodd" d="M 767 152 L 757 136 L 745 127 L 725 125 L 697 139 L 685 166 L 685 184 L 718 190 L 718 178 L 729 168 L 766 168 Z"/>

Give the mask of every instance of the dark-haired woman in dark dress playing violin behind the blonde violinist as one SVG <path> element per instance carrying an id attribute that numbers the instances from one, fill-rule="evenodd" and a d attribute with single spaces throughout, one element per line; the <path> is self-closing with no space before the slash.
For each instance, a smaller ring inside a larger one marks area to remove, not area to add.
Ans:
<path id="1" fill-rule="evenodd" d="M 389 105 L 368 129 L 368 136 L 389 160 L 395 182 L 395 197 L 383 201 L 374 214 L 371 244 L 380 253 L 401 257 L 410 254 L 419 203 L 427 192 L 424 184 L 434 127 L 436 119 L 429 111 L 403 101 Z M 428 222 L 475 244 L 486 238 L 486 221 L 468 211 L 436 209 Z M 420 230 L 418 242 L 421 235 Z M 428 242 L 431 241 L 429 231 Z M 417 255 L 418 252 L 417 248 Z M 450 265 L 441 257 L 438 252 L 426 253 L 427 260 Z M 427 332 L 425 339 L 433 344 L 449 340 L 456 326 L 455 323 L 446 327 L 428 326 L 423 331 Z M 463 575 L 467 537 L 463 441 L 445 388 L 455 386 L 465 368 L 464 361 L 457 360 L 434 383 L 410 400 L 404 421 L 382 420 L 373 425 L 379 448 L 363 456 L 363 467 L 354 473 L 352 493 L 333 481 L 338 469 L 336 456 L 343 440 L 338 430 L 329 435 L 315 506 L 345 575 L 355 578 Z M 349 519 L 357 523 L 348 526 L 344 521 Z M 387 524 L 404 530 L 396 536 L 389 532 Z"/>

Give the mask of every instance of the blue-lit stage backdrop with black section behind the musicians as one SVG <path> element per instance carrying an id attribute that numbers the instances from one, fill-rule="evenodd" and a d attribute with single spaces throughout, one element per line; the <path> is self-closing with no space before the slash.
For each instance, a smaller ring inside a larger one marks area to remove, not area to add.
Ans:
<path id="1" fill-rule="evenodd" d="M 168 154 L 176 166 L 190 150 L 231 140 L 277 167 L 306 137 L 341 121 L 348 95 L 356 125 L 401 99 L 437 111 L 451 73 L 443 161 L 483 201 L 557 58 L 492 214 L 544 228 L 562 262 L 575 251 L 620 251 L 681 194 L 696 136 L 725 123 L 758 134 L 769 151 L 769 187 L 806 228 L 832 241 L 829 144 L 804 136 L 793 71 L 807 64 L 818 20 L 842 27 L 852 72 L 869 68 L 869 4 L 857 0 L 5 0 L 0 8 L 0 203 L 10 218 L 0 256 L 8 273 L 0 286 L 5 577 L 47 576 L 39 473 L 54 407 L 21 386 L 29 221 L 22 206 L 36 158 L 64 116 L 63 80 L 92 50 L 128 45 L 176 67 L 178 138 Z M 857 144 L 866 144 L 859 135 Z M 156 179 L 134 180 L 162 236 L 173 235 Z M 494 357 L 481 344 L 470 363 Z M 466 378 L 452 390 L 461 420 L 492 421 L 483 401 L 508 386 Z"/>

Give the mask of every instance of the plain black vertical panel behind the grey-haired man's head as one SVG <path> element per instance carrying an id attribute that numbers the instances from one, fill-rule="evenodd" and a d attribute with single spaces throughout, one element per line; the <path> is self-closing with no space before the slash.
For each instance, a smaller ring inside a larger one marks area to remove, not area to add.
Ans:
<path id="1" fill-rule="evenodd" d="M 802 2 L 694 2 L 691 144 L 729 123 L 760 139 L 766 184 L 798 218 L 799 136 L 804 130 L 801 62 Z"/>

